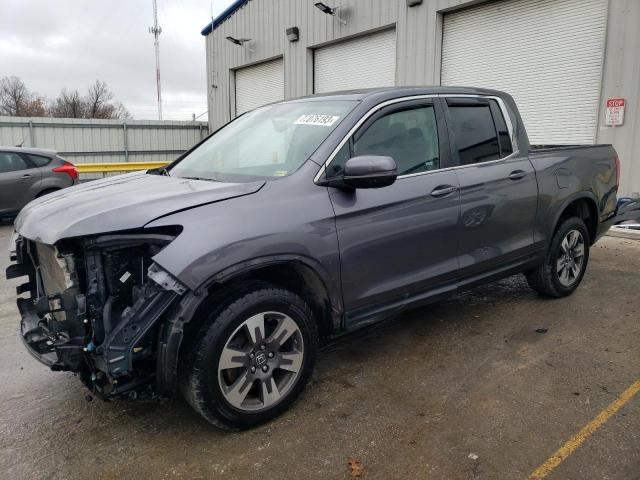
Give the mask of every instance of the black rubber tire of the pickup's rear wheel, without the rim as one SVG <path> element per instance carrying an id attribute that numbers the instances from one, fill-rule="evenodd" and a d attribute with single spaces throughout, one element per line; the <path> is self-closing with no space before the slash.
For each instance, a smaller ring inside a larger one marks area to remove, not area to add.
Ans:
<path id="1" fill-rule="evenodd" d="M 558 261 L 563 255 L 562 242 L 570 232 L 577 231 L 584 240 L 583 261 L 579 267 L 579 273 L 571 279 L 569 285 L 563 283 L 558 273 Z M 560 225 L 553 235 L 544 262 L 534 270 L 527 272 L 529 286 L 540 295 L 562 298 L 571 295 L 584 277 L 589 262 L 589 247 L 591 239 L 584 221 L 579 217 L 569 217 L 560 220 Z"/>

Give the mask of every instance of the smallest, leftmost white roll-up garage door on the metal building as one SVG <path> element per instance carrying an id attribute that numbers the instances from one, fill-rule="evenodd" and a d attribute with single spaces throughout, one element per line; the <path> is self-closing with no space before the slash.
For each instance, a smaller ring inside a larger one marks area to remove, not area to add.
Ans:
<path id="1" fill-rule="evenodd" d="M 283 98 L 282 58 L 236 70 L 236 115 Z"/>

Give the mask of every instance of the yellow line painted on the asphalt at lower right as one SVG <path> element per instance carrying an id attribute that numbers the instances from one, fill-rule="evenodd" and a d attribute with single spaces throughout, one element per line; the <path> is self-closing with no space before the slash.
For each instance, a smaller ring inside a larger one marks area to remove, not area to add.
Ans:
<path id="1" fill-rule="evenodd" d="M 560 465 L 569 455 L 571 455 L 589 436 L 600 428 L 609 418 L 622 406 L 640 392 L 640 380 L 627 388 L 622 394 L 601 411 L 596 418 L 587 423 L 582 430 L 571 437 L 560 447 L 549 459 L 536 468 L 529 480 L 539 480 L 549 475 L 558 465 Z"/>

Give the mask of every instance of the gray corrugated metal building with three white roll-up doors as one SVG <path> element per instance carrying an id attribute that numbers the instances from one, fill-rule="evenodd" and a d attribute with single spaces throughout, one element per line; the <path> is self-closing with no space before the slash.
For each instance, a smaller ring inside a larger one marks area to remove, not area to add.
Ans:
<path id="1" fill-rule="evenodd" d="M 312 93 L 496 88 L 515 97 L 534 143 L 613 143 L 622 193 L 640 192 L 639 1 L 326 0 L 334 15 L 315 3 L 239 0 L 202 31 L 212 129 Z M 615 127 L 612 98 L 625 100 Z"/>

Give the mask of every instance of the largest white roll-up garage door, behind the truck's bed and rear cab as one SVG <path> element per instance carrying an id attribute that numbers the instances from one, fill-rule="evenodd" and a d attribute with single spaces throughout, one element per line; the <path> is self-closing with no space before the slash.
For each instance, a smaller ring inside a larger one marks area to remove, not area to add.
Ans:
<path id="1" fill-rule="evenodd" d="M 444 16 L 443 85 L 510 93 L 532 143 L 590 143 L 607 0 L 491 2 Z"/>

